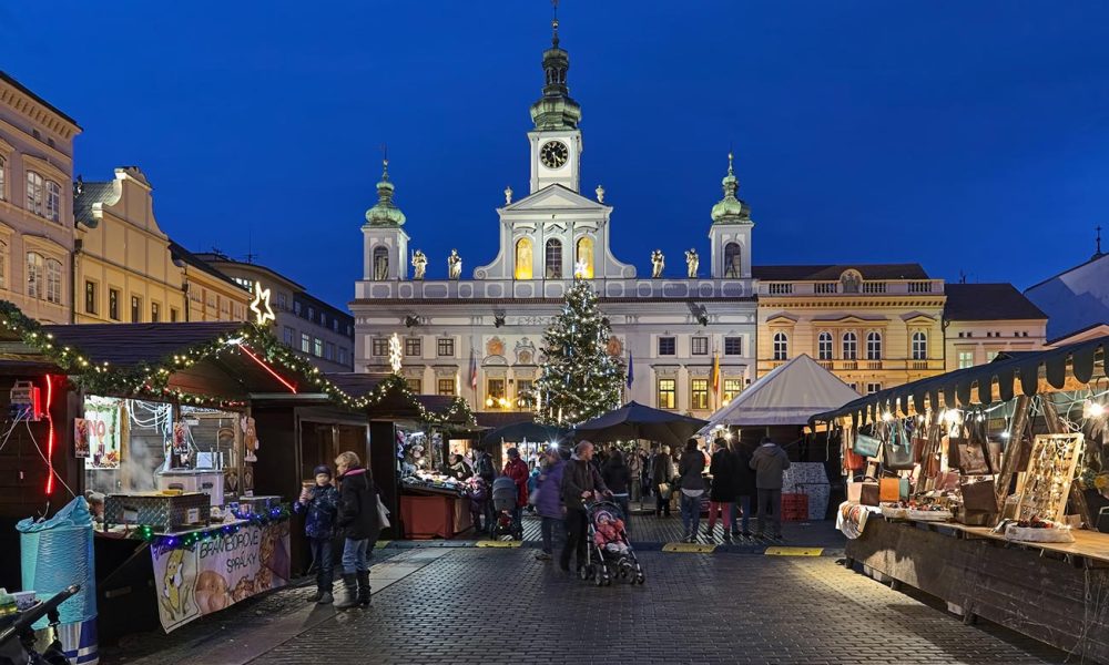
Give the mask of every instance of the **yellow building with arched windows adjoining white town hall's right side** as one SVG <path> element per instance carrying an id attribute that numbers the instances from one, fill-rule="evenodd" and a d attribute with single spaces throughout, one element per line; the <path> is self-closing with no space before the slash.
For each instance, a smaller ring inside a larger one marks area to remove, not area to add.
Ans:
<path id="1" fill-rule="evenodd" d="M 944 371 L 944 280 L 916 264 L 755 266 L 757 376 L 807 355 L 859 393 Z"/>

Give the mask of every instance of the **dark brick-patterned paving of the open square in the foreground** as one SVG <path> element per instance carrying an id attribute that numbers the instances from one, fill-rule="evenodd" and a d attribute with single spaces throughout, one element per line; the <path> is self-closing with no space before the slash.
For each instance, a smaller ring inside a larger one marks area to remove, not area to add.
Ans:
<path id="1" fill-rule="evenodd" d="M 533 550 L 449 549 L 252 665 L 301 663 L 1062 663 L 827 557 L 642 552 L 645 586 L 598 589 Z"/>

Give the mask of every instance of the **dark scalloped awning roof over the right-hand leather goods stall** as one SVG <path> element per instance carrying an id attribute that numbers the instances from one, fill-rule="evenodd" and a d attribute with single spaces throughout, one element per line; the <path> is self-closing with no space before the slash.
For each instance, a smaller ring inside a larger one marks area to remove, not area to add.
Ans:
<path id="1" fill-rule="evenodd" d="M 998 356 L 987 365 L 957 369 L 936 377 L 888 388 L 812 417 L 831 422 L 851 417 L 873 421 L 884 412 L 913 415 L 927 409 L 967 408 L 1008 401 L 1017 393 L 1032 396 L 1040 390 L 1074 390 L 1106 371 L 1109 337 L 1090 339 L 1056 349 Z M 1100 366 L 1100 374 L 1097 371 Z"/>

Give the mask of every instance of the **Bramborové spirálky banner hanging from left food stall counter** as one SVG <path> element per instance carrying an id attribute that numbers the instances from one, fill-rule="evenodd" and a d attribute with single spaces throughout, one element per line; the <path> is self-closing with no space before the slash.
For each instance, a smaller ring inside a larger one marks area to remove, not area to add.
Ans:
<path id="1" fill-rule="evenodd" d="M 284 520 L 201 541 L 189 548 L 151 548 L 157 614 L 169 633 L 205 614 L 288 583 L 288 528 Z"/>

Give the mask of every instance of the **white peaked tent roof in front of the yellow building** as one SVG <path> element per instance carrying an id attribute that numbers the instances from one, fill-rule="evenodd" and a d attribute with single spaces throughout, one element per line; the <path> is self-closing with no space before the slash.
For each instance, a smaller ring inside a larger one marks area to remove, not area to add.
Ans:
<path id="1" fill-rule="evenodd" d="M 807 424 L 808 418 L 838 409 L 858 393 L 808 356 L 801 355 L 751 385 L 721 407 L 701 431 L 719 427 Z"/>

